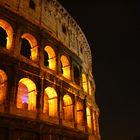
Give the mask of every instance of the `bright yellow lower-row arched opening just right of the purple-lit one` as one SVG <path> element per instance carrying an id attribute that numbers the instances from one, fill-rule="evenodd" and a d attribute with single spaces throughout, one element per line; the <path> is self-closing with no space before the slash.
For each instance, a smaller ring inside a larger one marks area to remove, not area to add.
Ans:
<path id="1" fill-rule="evenodd" d="M 50 117 L 57 117 L 57 93 L 52 87 L 47 87 L 44 91 L 43 113 L 47 113 Z"/>

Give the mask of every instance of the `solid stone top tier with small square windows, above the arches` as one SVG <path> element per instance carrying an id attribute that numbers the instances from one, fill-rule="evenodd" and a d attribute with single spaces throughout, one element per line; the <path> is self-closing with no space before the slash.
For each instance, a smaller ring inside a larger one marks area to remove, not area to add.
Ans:
<path id="1" fill-rule="evenodd" d="M 92 72 L 92 56 L 87 39 L 76 21 L 57 0 L 0 0 L 1 6 L 46 30 L 74 52 L 85 72 Z"/>

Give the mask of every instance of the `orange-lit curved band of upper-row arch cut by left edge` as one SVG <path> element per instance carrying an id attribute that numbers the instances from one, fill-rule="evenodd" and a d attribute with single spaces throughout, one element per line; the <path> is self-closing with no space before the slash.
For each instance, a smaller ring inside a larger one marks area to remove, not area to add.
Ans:
<path id="1" fill-rule="evenodd" d="M 9 49 L 12 48 L 13 29 L 12 29 L 11 25 L 8 22 L 6 22 L 6 21 L 4 21 L 2 19 L 0 19 L 0 27 L 2 27 L 6 31 L 7 35 L 8 35 L 7 36 L 6 48 L 9 50 Z"/>

